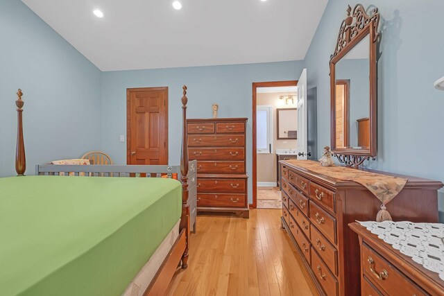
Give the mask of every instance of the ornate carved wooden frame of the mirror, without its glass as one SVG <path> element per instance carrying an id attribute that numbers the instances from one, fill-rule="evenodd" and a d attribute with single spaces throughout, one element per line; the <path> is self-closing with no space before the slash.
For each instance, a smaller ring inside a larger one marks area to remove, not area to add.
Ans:
<path id="1" fill-rule="evenodd" d="M 348 6 L 346 17 L 339 29 L 338 40 L 334 53 L 330 56 L 330 110 L 331 110 L 331 146 L 332 152 L 339 159 L 339 162 L 346 166 L 358 167 L 365 160 L 374 159 L 377 155 L 377 67 L 376 67 L 376 51 L 379 33 L 377 28 L 379 25 L 379 12 L 377 8 L 373 8 L 370 14 L 366 12 L 361 4 L 357 4 L 353 9 Z M 336 147 L 336 75 L 335 67 L 349 51 L 351 51 L 361 40 L 369 35 L 370 37 L 370 141 L 368 148 L 337 148 Z"/>

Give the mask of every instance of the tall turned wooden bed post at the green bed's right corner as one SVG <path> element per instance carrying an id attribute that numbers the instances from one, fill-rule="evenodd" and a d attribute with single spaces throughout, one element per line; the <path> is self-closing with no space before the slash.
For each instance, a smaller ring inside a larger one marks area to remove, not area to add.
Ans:
<path id="1" fill-rule="evenodd" d="M 182 96 L 182 152 L 180 156 L 180 173 L 182 175 L 182 217 L 180 219 L 180 229 L 186 229 L 187 247 L 182 256 L 182 269 L 188 267 L 188 250 L 189 250 L 189 206 L 188 206 L 188 139 L 187 139 L 187 86 L 184 85 Z"/>

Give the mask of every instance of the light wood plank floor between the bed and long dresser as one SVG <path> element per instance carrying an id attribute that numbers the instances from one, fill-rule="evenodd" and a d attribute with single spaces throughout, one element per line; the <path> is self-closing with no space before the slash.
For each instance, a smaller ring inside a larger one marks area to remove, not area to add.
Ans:
<path id="1" fill-rule="evenodd" d="M 316 295 L 278 209 L 250 218 L 198 216 L 189 267 L 178 270 L 168 295 Z"/>

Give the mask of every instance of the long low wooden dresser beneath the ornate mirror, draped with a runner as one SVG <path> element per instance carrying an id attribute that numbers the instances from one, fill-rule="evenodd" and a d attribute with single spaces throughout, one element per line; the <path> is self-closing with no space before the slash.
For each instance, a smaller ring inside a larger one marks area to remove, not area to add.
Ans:
<path id="1" fill-rule="evenodd" d="M 280 162 L 280 169 L 282 227 L 296 245 L 318 292 L 359 295 L 359 241 L 348 224 L 375 220 L 381 203 L 356 182 L 320 175 L 291 161 Z M 443 184 L 400 177 L 409 181 L 387 204 L 393 220 L 438 222 L 437 191 Z"/>

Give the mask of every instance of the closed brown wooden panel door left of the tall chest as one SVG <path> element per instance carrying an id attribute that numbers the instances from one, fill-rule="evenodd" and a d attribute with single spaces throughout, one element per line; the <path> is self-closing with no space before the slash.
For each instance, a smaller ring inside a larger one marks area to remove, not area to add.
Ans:
<path id="1" fill-rule="evenodd" d="M 127 89 L 127 164 L 168 164 L 168 87 Z"/>

